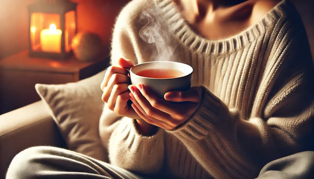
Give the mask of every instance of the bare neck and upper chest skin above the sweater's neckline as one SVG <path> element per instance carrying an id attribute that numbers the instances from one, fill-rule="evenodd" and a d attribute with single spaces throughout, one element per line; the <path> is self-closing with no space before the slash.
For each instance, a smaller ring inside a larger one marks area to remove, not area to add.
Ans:
<path id="1" fill-rule="evenodd" d="M 279 1 L 247 0 L 216 9 L 208 7 L 206 1 L 203 2 L 205 3 L 196 5 L 198 6 L 197 15 L 189 9 L 183 10 L 181 13 L 198 34 L 206 39 L 216 40 L 232 37 L 258 23 Z"/>

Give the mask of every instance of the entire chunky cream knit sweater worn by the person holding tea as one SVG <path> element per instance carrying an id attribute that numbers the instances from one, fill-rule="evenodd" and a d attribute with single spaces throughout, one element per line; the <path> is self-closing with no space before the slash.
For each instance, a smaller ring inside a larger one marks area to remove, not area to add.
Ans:
<path id="1" fill-rule="evenodd" d="M 117 18 L 112 65 L 125 57 L 150 60 L 139 38 L 142 8 L 133 0 Z M 254 178 L 267 162 L 308 150 L 313 134 L 313 63 L 294 6 L 282 1 L 257 24 L 223 40 L 196 34 L 171 0 L 157 0 L 177 39 L 176 61 L 193 67 L 193 85 L 205 86 L 195 114 L 174 130 L 143 136 L 136 122 L 106 105 L 100 136 L 111 164 L 174 178 Z M 153 48 L 153 47 L 152 47 Z M 146 49 L 146 50 L 145 50 Z"/>

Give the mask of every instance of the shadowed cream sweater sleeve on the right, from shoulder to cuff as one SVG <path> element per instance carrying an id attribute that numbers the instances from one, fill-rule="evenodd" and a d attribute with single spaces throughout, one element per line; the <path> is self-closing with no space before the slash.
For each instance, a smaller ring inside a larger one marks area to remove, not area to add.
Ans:
<path id="1" fill-rule="evenodd" d="M 289 36 L 289 35 L 288 35 Z M 168 131 L 187 147 L 214 178 L 254 178 L 266 163 L 308 150 L 313 134 L 313 64 L 305 37 L 276 42 L 269 56 L 273 72 L 260 82 L 269 90 L 257 92 L 266 99 L 256 114 L 241 118 L 206 87 L 195 114 Z M 267 65 L 268 65 L 267 64 Z M 258 101 L 258 100 L 255 100 Z M 256 106 L 256 105 L 255 105 Z"/>

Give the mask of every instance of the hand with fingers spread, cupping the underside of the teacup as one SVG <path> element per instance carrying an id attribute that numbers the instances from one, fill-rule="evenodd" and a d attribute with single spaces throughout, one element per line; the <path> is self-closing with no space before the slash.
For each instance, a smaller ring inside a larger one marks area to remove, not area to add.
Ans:
<path id="1" fill-rule="evenodd" d="M 167 130 L 176 128 L 192 116 L 203 93 L 202 88 L 191 87 L 187 91 L 167 92 L 165 99 L 160 99 L 143 84 L 130 85 L 129 89 L 135 112 L 147 123 Z"/>

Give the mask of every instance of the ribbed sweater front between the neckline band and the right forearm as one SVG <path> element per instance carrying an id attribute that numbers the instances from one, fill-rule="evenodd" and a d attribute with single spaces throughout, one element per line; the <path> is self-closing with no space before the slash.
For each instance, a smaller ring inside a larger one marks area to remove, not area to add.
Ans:
<path id="1" fill-rule="evenodd" d="M 263 75 L 264 51 L 256 48 L 261 40 L 224 55 L 205 55 L 180 45 L 175 61 L 193 68 L 192 86 L 203 85 L 229 108 L 237 108 L 248 117 Z"/>

